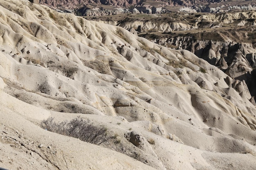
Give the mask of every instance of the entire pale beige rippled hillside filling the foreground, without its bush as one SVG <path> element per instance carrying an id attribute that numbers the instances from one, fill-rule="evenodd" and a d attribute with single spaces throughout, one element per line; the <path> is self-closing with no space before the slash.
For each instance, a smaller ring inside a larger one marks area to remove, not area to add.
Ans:
<path id="1" fill-rule="evenodd" d="M 256 168 L 256 109 L 246 84 L 189 51 L 4 0 L 0 77 L 0 167 Z M 40 128 L 50 116 L 81 116 L 113 137 L 96 146 Z M 131 131 L 139 146 L 125 138 Z"/>

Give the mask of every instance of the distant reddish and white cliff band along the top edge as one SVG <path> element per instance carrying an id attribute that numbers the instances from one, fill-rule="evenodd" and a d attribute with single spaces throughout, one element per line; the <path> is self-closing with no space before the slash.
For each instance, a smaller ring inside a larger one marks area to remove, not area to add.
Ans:
<path id="1" fill-rule="evenodd" d="M 129 11 L 129 8 L 136 8 L 140 13 L 170 13 L 178 12 L 206 12 L 206 13 L 224 13 L 229 11 L 255 11 L 256 6 L 253 0 L 30 0 L 30 2 L 40 3 L 59 10 L 78 10 L 77 15 L 83 16 L 101 16 L 115 15 L 120 11 L 115 7 L 122 7 L 122 10 Z M 93 5 L 99 10 L 88 10 Z M 174 7 L 174 8 L 173 8 Z M 108 12 L 106 12 L 108 11 Z M 115 12 L 113 12 L 115 11 Z M 132 11 L 130 11 L 132 12 Z"/>

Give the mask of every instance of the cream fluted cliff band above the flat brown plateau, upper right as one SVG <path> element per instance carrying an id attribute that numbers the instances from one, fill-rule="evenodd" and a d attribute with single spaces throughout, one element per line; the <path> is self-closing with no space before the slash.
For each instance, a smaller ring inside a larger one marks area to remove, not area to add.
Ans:
<path id="1" fill-rule="evenodd" d="M 256 18 L 255 11 L 247 11 L 247 12 L 234 12 L 234 13 L 223 13 L 223 14 L 203 14 L 196 18 L 193 25 L 191 23 L 187 23 L 186 20 L 182 22 L 171 22 L 171 23 L 161 23 L 161 22 L 152 22 L 152 21 L 135 21 L 135 22 L 124 22 L 124 23 L 117 23 L 117 22 L 109 22 L 109 21 L 101 21 L 104 23 L 109 23 L 112 25 L 118 25 L 125 29 L 135 28 L 137 29 L 138 26 L 141 26 L 141 29 L 144 31 L 159 31 L 159 32 L 168 32 L 168 31 L 186 31 L 186 30 L 193 30 L 198 29 L 198 24 L 200 22 L 209 22 L 207 25 L 203 25 L 203 27 L 222 27 L 223 24 L 229 24 L 233 22 L 236 23 L 238 26 L 243 25 L 254 25 L 255 22 L 252 22 L 253 19 Z M 251 20 L 248 22 L 248 20 Z M 218 24 L 216 24 L 218 23 Z M 228 37 L 223 35 L 225 41 L 231 42 Z"/>

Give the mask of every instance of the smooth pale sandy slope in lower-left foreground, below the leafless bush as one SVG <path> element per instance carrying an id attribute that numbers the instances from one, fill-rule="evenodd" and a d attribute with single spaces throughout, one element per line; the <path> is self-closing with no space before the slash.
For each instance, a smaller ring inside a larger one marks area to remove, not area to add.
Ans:
<path id="1" fill-rule="evenodd" d="M 17 108 L 24 108 L 24 111 L 25 109 L 30 111 L 30 108 L 32 108 L 24 107 L 26 106 L 24 102 L 17 102 L 14 97 L 3 91 L 0 91 L 0 96 L 1 100 L 5 98 L 5 101 L 8 100 L 12 104 L 16 102 Z M 106 167 L 109 169 L 155 170 L 155 168 L 113 150 L 43 130 L 26 120 L 24 116 L 20 115 L 21 112 L 19 110 L 13 110 L 10 106 L 3 105 L 2 102 L 0 106 L 2 111 L 0 117 L 1 128 L 4 128 L 4 132 L 1 131 L 1 136 L 4 139 L 1 138 L 0 142 L 1 150 L 3 151 L 1 153 L 1 167 L 8 169 L 13 167 L 25 169 L 29 167 L 41 170 L 56 168 L 61 170 L 72 168 L 77 170 L 102 170 Z M 37 108 L 38 110 L 46 111 L 39 107 Z M 38 110 L 34 110 L 34 113 L 31 112 L 29 114 L 36 115 L 35 111 Z M 41 148 L 38 147 L 39 145 Z M 12 146 L 20 149 L 13 149 Z"/>

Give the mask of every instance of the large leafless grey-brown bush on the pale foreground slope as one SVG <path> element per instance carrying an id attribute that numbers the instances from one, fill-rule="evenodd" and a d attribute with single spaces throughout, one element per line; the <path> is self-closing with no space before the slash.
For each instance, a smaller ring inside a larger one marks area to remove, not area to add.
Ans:
<path id="1" fill-rule="evenodd" d="M 41 122 L 41 127 L 51 132 L 75 137 L 91 144 L 99 145 L 109 138 L 107 135 L 107 128 L 104 126 L 96 126 L 88 119 L 84 120 L 81 117 L 76 117 L 69 122 L 56 122 L 54 121 L 54 118 L 49 117 Z"/>

